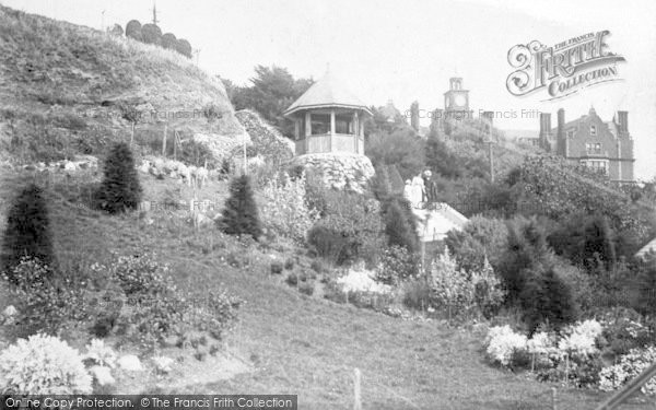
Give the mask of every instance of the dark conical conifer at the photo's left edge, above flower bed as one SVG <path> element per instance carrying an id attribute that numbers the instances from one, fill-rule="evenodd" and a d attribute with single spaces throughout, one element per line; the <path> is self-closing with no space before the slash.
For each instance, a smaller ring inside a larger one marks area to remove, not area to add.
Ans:
<path id="1" fill-rule="evenodd" d="M 48 207 L 42 189 L 34 184 L 21 191 L 9 210 L 0 267 L 11 274 L 23 257 L 36 258 L 50 267 L 56 263 Z"/>

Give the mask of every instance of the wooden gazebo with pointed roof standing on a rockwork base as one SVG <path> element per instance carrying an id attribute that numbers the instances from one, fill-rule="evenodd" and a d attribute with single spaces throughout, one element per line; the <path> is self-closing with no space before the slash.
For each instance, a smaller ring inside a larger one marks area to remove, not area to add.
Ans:
<path id="1" fill-rule="evenodd" d="M 284 112 L 294 121 L 296 155 L 364 154 L 364 119 L 371 115 L 329 72 Z"/>

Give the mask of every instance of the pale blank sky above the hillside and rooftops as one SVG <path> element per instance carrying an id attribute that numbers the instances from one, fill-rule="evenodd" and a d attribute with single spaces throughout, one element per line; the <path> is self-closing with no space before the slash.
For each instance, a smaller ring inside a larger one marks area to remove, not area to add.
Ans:
<path id="1" fill-rule="evenodd" d="M 187 38 L 199 66 L 246 84 L 256 65 L 277 65 L 296 78 L 335 75 L 367 105 L 388 99 L 405 112 L 444 105 L 450 77 L 461 77 L 470 106 L 517 113 L 495 118 L 501 129 L 537 130 L 522 110 L 565 109 L 566 120 L 594 107 L 604 120 L 629 112 L 636 176 L 656 176 L 656 1 L 653 0 L 0 0 L 0 3 L 95 28 L 152 20 Z M 585 89 L 555 102 L 541 92 L 506 90 L 508 49 L 540 40 L 551 46 L 588 32 L 610 31 L 622 55 L 619 82 Z M 427 125 L 429 118 L 422 124 Z"/>

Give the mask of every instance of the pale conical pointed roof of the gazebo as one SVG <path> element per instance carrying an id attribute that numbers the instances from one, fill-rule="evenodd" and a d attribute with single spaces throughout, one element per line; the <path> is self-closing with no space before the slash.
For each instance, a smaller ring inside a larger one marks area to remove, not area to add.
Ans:
<path id="1" fill-rule="evenodd" d="M 284 115 L 291 116 L 303 109 L 328 107 L 361 109 L 372 115 L 366 105 L 347 90 L 343 83 L 339 82 L 329 71 L 290 105 Z"/>

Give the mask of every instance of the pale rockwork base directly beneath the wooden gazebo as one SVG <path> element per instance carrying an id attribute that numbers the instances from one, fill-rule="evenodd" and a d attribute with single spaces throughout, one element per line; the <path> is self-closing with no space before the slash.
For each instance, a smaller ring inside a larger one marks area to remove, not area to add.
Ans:
<path id="1" fill-rule="evenodd" d="M 292 166 L 303 166 L 321 174 L 324 184 L 335 189 L 363 192 L 375 171 L 368 157 L 360 154 L 332 152 L 298 155 Z"/>

